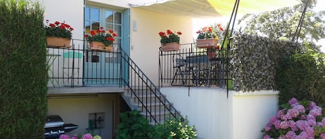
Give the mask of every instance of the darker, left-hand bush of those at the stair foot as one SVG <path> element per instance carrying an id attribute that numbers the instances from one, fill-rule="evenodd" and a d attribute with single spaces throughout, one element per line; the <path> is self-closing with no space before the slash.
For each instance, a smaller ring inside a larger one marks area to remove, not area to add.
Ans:
<path id="1" fill-rule="evenodd" d="M 150 139 L 154 130 L 140 111 L 121 113 L 121 123 L 116 129 L 116 139 Z"/>

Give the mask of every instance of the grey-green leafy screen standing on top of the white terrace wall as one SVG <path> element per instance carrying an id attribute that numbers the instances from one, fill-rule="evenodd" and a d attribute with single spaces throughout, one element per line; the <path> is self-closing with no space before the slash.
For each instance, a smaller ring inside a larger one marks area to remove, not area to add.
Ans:
<path id="1" fill-rule="evenodd" d="M 276 64 L 283 55 L 292 55 L 299 46 L 290 41 L 234 34 L 231 74 L 236 91 L 273 90 Z"/>

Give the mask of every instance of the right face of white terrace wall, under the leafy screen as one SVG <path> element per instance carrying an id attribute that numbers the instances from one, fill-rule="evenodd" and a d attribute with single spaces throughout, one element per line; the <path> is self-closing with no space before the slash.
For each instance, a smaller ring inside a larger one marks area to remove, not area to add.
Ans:
<path id="1" fill-rule="evenodd" d="M 262 138 L 261 129 L 278 111 L 277 91 L 231 92 L 234 138 Z"/>

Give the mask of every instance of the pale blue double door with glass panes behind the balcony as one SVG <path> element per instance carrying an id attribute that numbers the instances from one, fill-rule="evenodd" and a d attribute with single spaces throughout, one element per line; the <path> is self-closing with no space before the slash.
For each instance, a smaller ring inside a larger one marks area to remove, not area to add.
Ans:
<path id="1" fill-rule="evenodd" d="M 121 58 L 117 53 L 121 48 L 122 40 L 122 12 L 98 8 L 93 6 L 85 7 L 85 34 L 89 35 L 91 30 L 105 31 L 114 30 L 117 34 L 113 44 L 112 52 L 96 51 L 89 49 L 89 42 L 86 42 L 86 57 L 84 66 L 85 85 L 114 86 L 118 85 L 121 78 Z"/>

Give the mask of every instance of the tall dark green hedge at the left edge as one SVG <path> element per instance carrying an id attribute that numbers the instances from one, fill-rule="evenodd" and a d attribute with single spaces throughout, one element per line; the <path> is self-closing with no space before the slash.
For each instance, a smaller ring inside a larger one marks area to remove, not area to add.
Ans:
<path id="1" fill-rule="evenodd" d="M 44 138 L 47 113 L 44 10 L 0 0 L 0 137 Z"/>

